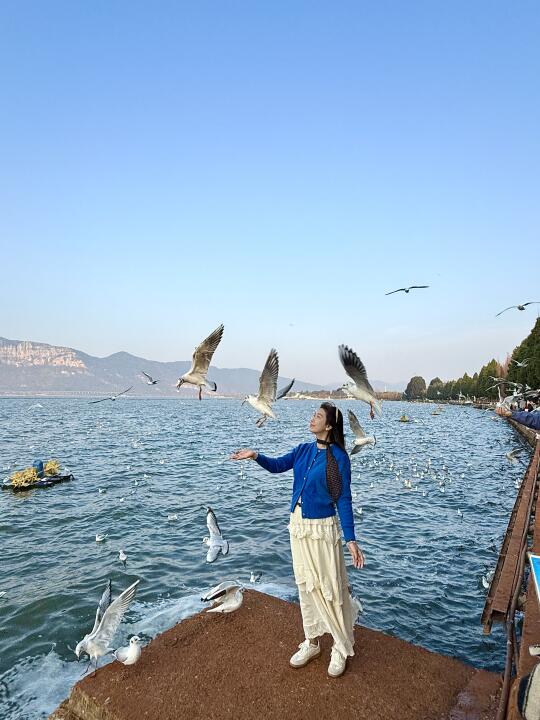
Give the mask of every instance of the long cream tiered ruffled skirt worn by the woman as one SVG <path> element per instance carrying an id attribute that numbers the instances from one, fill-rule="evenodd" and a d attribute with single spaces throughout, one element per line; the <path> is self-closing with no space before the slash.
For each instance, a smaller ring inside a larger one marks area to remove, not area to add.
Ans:
<path id="1" fill-rule="evenodd" d="M 337 517 L 303 518 L 297 505 L 290 516 L 289 534 L 306 638 L 330 633 L 343 656 L 354 655 L 360 604 L 349 591 Z"/>

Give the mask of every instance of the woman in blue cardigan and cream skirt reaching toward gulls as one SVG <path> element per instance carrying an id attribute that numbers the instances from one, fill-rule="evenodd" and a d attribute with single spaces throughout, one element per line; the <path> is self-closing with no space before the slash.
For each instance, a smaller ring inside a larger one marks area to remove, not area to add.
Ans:
<path id="1" fill-rule="evenodd" d="M 318 657 L 319 636 L 330 633 L 334 645 L 328 674 L 338 677 L 345 671 L 347 657 L 354 655 L 354 625 L 360 606 L 349 590 L 336 508 L 355 568 L 363 567 L 364 556 L 354 535 L 351 462 L 345 449 L 343 415 L 333 403 L 324 402 L 311 418 L 309 429 L 315 442 L 302 443 L 282 457 L 244 449 L 231 459 L 255 460 L 271 473 L 294 471 L 289 535 L 306 639 L 290 664 L 300 668 Z"/>

